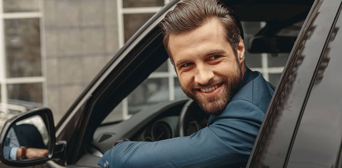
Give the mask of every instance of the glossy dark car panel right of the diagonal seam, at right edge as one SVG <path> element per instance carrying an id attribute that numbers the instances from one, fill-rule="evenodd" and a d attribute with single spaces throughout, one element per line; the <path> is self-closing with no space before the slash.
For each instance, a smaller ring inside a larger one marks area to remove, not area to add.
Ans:
<path id="1" fill-rule="evenodd" d="M 342 17 L 331 30 L 287 167 L 335 167 L 342 140 Z"/>

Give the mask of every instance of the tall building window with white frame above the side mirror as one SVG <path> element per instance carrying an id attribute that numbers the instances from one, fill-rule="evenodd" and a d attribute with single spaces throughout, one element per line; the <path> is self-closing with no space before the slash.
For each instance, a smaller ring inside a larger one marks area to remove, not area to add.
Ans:
<path id="1" fill-rule="evenodd" d="M 1 109 L 12 105 L 32 109 L 46 104 L 42 3 L 42 0 L 0 1 Z"/>

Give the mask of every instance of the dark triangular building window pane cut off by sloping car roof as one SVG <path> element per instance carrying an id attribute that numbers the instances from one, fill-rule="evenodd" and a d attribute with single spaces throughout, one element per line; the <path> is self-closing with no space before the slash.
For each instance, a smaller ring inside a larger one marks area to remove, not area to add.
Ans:
<path id="1" fill-rule="evenodd" d="M 124 14 L 123 28 L 125 42 L 153 15 L 154 13 Z"/>

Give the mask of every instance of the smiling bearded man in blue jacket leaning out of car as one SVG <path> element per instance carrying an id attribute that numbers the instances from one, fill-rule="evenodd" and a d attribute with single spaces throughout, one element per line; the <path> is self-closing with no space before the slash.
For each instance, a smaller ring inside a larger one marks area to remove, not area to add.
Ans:
<path id="1" fill-rule="evenodd" d="M 102 167 L 245 167 L 274 87 L 245 65 L 232 11 L 217 0 L 185 0 L 160 24 L 184 93 L 210 114 L 208 126 L 157 142 L 123 141 Z"/>

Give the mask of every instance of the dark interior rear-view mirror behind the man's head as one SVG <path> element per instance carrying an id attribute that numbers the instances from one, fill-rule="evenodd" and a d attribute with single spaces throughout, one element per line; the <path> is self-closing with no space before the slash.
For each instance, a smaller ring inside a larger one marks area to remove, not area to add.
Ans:
<path id="1" fill-rule="evenodd" d="M 286 36 L 256 36 L 248 46 L 250 53 L 290 53 L 297 37 Z"/>

